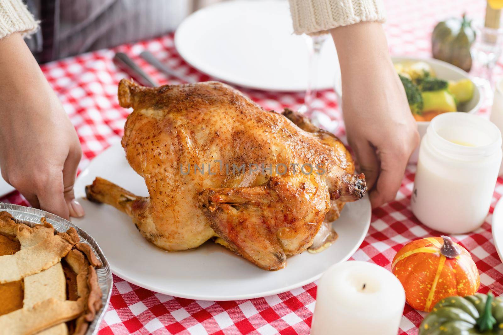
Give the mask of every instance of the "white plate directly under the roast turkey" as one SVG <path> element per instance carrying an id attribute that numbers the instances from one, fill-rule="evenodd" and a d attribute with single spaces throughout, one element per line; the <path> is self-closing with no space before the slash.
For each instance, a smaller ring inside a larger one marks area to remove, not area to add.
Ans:
<path id="1" fill-rule="evenodd" d="M 137 195 L 148 195 L 143 178 L 130 168 L 119 143 L 98 155 L 79 175 L 77 197 L 85 196 L 85 186 L 97 176 Z M 334 223 L 339 238 L 332 246 L 319 254 L 292 256 L 284 269 L 265 271 L 211 241 L 189 251 L 162 251 L 140 235 L 126 214 L 84 199 L 81 204 L 86 216 L 72 222 L 98 242 L 113 273 L 156 292 L 200 300 L 255 298 L 308 284 L 330 265 L 353 255 L 371 218 L 367 197 L 349 203 Z"/>

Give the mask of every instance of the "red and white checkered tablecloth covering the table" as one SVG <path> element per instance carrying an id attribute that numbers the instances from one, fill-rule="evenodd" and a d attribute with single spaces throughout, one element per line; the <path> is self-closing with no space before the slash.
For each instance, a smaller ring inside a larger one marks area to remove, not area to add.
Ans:
<path id="1" fill-rule="evenodd" d="M 389 47 L 393 55 L 430 56 L 430 34 L 434 25 L 451 16 L 466 12 L 482 18 L 484 0 L 387 0 L 388 21 L 385 24 Z M 75 126 L 82 144 L 80 168 L 119 141 L 128 111 L 117 101 L 117 84 L 126 75 L 112 63 L 117 51 L 135 59 L 146 72 L 160 83 L 167 78 L 146 64 L 138 54 L 149 50 L 167 65 L 197 80 L 208 80 L 191 68 L 177 54 L 173 35 L 151 41 L 120 46 L 67 58 L 42 66 L 43 72 L 61 99 Z M 303 66 L 303 65 L 299 65 Z M 501 64 L 497 72 L 503 73 Z M 178 83 L 170 80 L 170 83 Z M 302 93 L 272 93 L 242 89 L 266 109 L 298 108 Z M 330 120 L 341 121 L 338 102 L 333 91 L 318 93 L 314 105 Z M 482 111 L 484 113 L 484 111 Z M 335 123 L 334 123 L 335 124 Z M 342 123 L 336 133 L 344 134 Z M 403 179 L 396 200 L 373 211 L 370 230 L 352 259 L 374 262 L 387 269 L 395 253 L 408 241 L 436 235 L 420 224 L 410 212 L 409 200 L 414 179 L 410 167 Z M 457 235 L 472 254 L 480 271 L 481 292 L 491 289 L 503 294 L 503 264 L 494 248 L 491 236 L 491 213 L 503 194 L 503 179 L 499 178 L 494 191 L 490 214 L 480 229 L 467 235 Z M 28 205 L 14 192 L 2 199 Z M 140 288 L 114 276 L 110 306 L 101 324 L 105 334 L 308 334 L 316 297 L 316 284 L 263 298 L 238 301 L 197 301 L 176 298 Z M 377 311 L 376 311 L 377 312 Z M 400 334 L 416 334 L 424 313 L 405 306 Z"/>

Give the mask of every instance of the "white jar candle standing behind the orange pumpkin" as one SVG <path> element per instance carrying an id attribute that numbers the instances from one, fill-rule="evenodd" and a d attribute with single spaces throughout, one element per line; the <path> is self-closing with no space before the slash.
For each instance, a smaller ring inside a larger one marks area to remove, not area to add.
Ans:
<path id="1" fill-rule="evenodd" d="M 501 163 L 501 133 L 480 116 L 436 116 L 421 141 L 410 205 L 424 225 L 448 234 L 480 227 Z"/>

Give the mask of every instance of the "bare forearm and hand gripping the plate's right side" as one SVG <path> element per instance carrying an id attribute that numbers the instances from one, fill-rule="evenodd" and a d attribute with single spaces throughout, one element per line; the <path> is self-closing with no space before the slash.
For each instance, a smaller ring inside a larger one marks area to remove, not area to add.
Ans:
<path id="1" fill-rule="evenodd" d="M 349 144 L 376 208 L 395 199 L 408 158 L 419 143 L 417 126 L 381 24 L 358 23 L 330 32 L 341 64 Z"/>

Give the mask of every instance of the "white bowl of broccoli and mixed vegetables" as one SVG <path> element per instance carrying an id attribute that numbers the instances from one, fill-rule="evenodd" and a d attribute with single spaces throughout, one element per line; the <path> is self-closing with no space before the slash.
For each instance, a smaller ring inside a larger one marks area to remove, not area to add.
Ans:
<path id="1" fill-rule="evenodd" d="M 433 58 L 392 57 L 393 64 L 404 84 L 410 110 L 423 138 L 430 120 L 441 113 L 476 113 L 481 105 L 481 92 L 467 72 L 447 62 Z M 341 97 L 340 78 L 335 91 Z M 409 163 L 416 163 L 418 148 Z"/>

